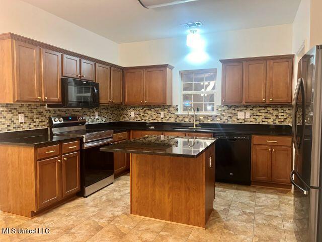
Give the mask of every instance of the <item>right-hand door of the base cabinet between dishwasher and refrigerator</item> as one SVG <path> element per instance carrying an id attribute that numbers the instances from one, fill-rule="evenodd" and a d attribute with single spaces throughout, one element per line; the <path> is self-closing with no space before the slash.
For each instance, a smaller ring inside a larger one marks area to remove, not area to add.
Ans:
<path id="1" fill-rule="evenodd" d="M 290 184 L 292 162 L 291 147 L 272 147 L 272 181 Z"/>

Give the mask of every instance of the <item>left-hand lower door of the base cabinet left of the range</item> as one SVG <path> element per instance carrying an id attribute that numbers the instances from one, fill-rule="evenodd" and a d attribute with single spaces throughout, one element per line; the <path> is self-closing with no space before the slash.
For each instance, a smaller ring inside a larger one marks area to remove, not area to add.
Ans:
<path id="1" fill-rule="evenodd" d="M 54 157 L 37 161 L 38 209 L 61 198 L 61 160 Z"/>

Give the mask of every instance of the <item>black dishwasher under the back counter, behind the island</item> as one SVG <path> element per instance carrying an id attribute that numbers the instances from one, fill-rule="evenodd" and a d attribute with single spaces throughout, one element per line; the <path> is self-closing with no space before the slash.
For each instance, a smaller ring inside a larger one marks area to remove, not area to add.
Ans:
<path id="1" fill-rule="evenodd" d="M 219 135 L 215 144 L 215 180 L 251 185 L 251 136 Z"/>

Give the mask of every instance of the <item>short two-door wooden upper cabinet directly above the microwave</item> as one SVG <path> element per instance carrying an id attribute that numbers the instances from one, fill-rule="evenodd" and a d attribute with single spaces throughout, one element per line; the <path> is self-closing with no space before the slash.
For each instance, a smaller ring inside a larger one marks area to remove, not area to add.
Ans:
<path id="1" fill-rule="evenodd" d="M 75 56 L 62 55 L 62 76 L 95 81 L 95 63 Z"/>

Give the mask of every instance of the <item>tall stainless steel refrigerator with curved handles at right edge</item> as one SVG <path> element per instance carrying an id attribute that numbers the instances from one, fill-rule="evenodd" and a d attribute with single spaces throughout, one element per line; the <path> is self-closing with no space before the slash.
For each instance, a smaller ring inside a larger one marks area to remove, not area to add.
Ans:
<path id="1" fill-rule="evenodd" d="M 298 64 L 298 81 L 292 103 L 295 149 L 294 210 L 298 241 L 322 241 L 322 45 L 310 49 Z"/>

